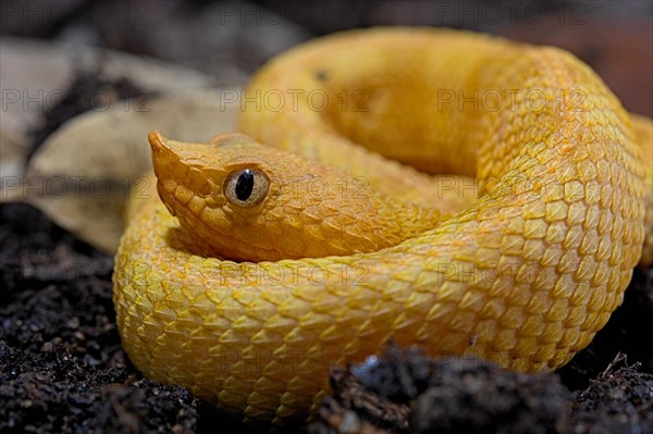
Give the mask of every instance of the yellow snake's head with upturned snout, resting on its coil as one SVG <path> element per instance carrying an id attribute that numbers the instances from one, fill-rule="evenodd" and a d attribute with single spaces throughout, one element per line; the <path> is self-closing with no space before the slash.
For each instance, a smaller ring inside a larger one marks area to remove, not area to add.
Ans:
<path id="1" fill-rule="evenodd" d="M 243 134 L 206 144 L 149 135 L 157 189 L 211 256 L 264 261 L 373 251 L 414 235 L 439 213 L 415 213 L 364 181 Z M 406 215 L 410 215 L 407 219 Z"/>

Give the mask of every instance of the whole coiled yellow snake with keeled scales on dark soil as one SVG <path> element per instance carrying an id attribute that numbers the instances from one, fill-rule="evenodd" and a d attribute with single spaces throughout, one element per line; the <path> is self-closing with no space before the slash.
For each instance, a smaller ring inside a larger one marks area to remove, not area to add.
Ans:
<path id="1" fill-rule="evenodd" d="M 306 416 L 331 365 L 389 338 L 555 369 L 646 237 L 651 261 L 651 120 L 563 50 L 349 32 L 273 59 L 242 103 L 251 138 L 150 134 L 165 206 L 133 203 L 114 302 L 143 373 L 246 420 Z"/>

